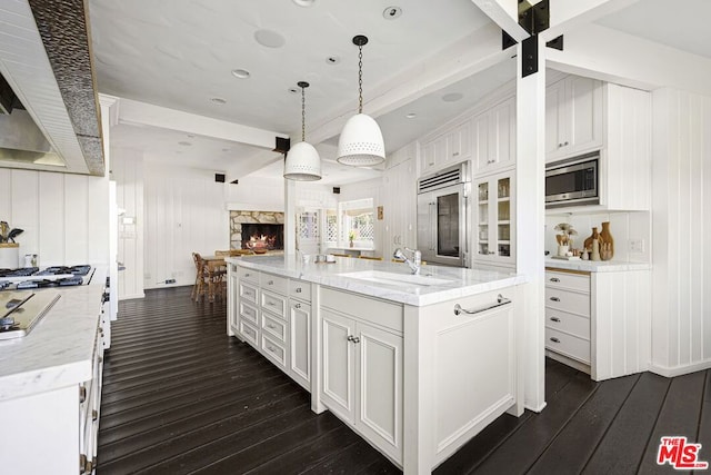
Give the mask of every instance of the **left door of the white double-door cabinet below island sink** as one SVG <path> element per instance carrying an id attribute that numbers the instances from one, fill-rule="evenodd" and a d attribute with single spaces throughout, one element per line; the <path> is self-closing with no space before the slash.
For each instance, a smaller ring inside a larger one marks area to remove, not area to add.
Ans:
<path id="1" fill-rule="evenodd" d="M 356 422 L 354 345 L 356 325 L 350 318 L 322 309 L 321 400 L 334 414 Z"/>

